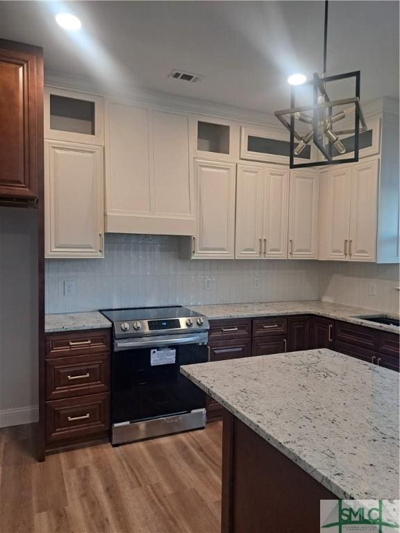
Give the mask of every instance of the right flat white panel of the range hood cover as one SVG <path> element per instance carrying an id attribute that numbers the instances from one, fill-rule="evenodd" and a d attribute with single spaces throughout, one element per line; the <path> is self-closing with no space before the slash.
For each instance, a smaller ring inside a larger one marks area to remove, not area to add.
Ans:
<path id="1" fill-rule="evenodd" d="M 153 146 L 156 214 L 194 218 L 188 117 L 154 111 Z"/>

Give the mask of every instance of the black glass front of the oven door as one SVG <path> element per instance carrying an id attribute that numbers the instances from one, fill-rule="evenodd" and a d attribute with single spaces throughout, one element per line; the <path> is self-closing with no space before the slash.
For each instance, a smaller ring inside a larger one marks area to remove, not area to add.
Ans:
<path id="1" fill-rule="evenodd" d="M 174 363 L 152 365 L 151 348 L 113 353 L 113 423 L 146 420 L 205 407 L 205 394 L 181 374 L 179 366 L 206 362 L 206 346 L 186 344 L 169 346 L 168 349 L 175 350 Z M 157 359 L 160 358 L 153 355 L 153 363 Z M 166 360 L 170 361 L 171 357 Z"/>

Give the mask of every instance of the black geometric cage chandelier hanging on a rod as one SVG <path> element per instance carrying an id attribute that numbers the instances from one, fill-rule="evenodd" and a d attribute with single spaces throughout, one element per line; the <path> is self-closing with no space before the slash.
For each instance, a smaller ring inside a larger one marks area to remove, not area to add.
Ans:
<path id="1" fill-rule="evenodd" d="M 290 109 L 276 111 L 276 118 L 290 132 L 290 168 L 317 167 L 326 164 L 340 164 L 358 161 L 358 142 L 360 132 L 367 130 L 367 124 L 360 106 L 360 71 L 326 76 L 326 40 L 328 35 L 328 0 L 325 1 L 325 23 L 324 23 L 324 71 L 322 78 L 317 73 L 313 74 L 313 79 L 301 85 L 311 86 L 313 90 L 313 104 L 296 106 L 296 92 L 298 87 L 290 90 Z M 331 100 L 328 96 L 328 83 L 355 79 L 356 94 L 351 98 L 341 100 Z M 343 107 L 349 107 L 343 110 Z M 334 108 L 340 106 L 340 111 L 334 112 Z M 336 126 L 344 119 L 349 121 L 349 117 L 354 114 L 354 123 L 351 128 L 338 129 Z M 310 124 L 310 130 L 306 133 L 299 133 L 296 130 L 296 121 Z M 347 149 L 340 140 L 343 135 L 353 135 L 354 144 L 349 152 L 354 152 L 353 158 L 347 155 Z M 309 163 L 295 163 L 303 149 L 313 142 L 318 150 L 317 159 L 324 157 L 324 160 L 317 160 Z M 346 155 L 345 158 L 338 158 L 338 155 Z"/>

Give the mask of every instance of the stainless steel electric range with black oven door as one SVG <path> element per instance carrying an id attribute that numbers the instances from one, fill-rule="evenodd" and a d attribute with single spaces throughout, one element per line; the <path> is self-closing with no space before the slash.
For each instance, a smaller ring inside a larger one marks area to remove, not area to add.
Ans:
<path id="1" fill-rule="evenodd" d="M 113 323 L 113 445 L 203 428 L 206 395 L 179 367 L 208 361 L 206 316 L 177 306 L 101 313 Z"/>

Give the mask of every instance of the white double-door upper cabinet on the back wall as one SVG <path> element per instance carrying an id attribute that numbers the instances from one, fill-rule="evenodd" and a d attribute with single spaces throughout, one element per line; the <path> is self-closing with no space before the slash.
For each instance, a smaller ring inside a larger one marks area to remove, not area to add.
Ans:
<path id="1" fill-rule="evenodd" d="M 289 171 L 238 164 L 235 257 L 288 257 Z"/>

